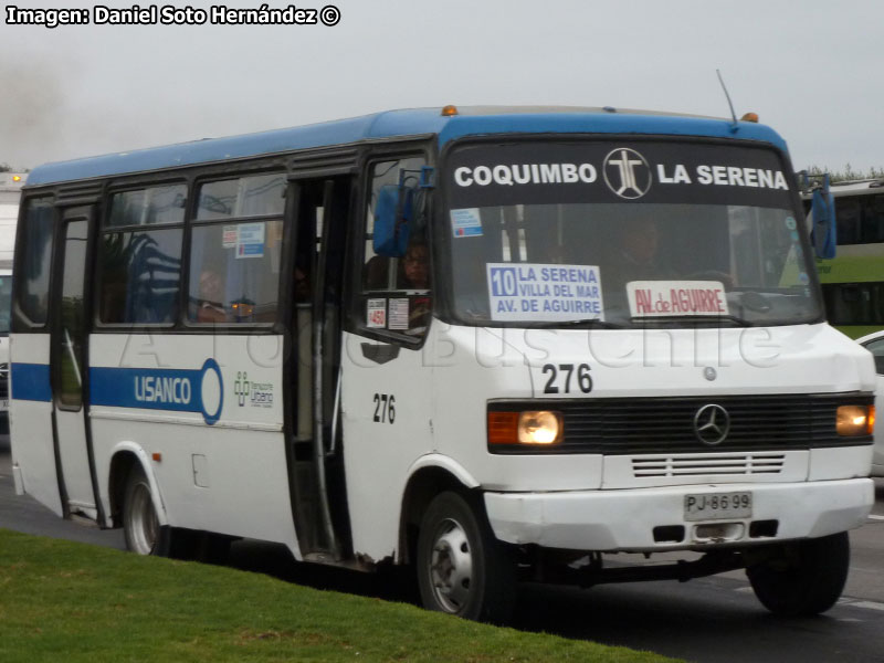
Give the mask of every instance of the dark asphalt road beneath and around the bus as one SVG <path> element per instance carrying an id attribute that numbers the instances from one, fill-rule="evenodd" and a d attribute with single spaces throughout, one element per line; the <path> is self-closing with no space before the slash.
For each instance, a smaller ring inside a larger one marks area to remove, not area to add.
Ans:
<path id="1" fill-rule="evenodd" d="M 62 520 L 30 497 L 15 496 L 8 438 L 0 438 L 0 527 L 125 547 L 119 530 L 102 532 Z M 818 618 L 771 617 L 755 599 L 745 575 L 734 571 L 686 583 L 640 582 L 589 590 L 525 585 L 513 625 L 704 663 L 882 662 L 884 481 L 877 482 L 873 517 L 851 533 L 851 545 L 853 557 L 844 597 Z M 324 589 L 413 600 L 410 585 L 401 577 L 297 565 L 281 546 L 259 541 L 235 544 L 230 564 Z"/>

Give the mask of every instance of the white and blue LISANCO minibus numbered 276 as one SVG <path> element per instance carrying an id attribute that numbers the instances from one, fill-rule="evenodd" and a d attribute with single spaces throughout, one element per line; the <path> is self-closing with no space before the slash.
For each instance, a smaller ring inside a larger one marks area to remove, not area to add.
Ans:
<path id="1" fill-rule="evenodd" d="M 824 611 L 874 502 L 874 369 L 825 323 L 793 181 L 762 125 L 614 108 L 36 168 L 17 490 L 140 554 L 413 565 L 473 619 L 525 577 L 741 568 L 771 611 Z"/>

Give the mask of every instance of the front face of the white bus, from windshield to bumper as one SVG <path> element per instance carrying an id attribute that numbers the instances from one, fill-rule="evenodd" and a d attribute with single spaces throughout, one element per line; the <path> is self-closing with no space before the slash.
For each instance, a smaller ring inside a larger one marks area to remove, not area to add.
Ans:
<path id="1" fill-rule="evenodd" d="M 782 155 L 485 139 L 441 171 L 433 442 L 498 537 L 646 550 L 708 543 L 706 517 L 741 544 L 862 522 L 871 429 L 839 417 L 870 412 L 872 367 L 822 322 Z M 583 501 L 599 488 L 635 492 Z M 723 491 L 739 508 L 687 506 Z"/>

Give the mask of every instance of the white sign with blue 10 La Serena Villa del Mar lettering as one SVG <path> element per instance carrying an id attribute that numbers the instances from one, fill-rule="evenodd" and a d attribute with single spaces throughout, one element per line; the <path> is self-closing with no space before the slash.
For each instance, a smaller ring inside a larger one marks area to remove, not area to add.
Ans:
<path id="1" fill-rule="evenodd" d="M 596 265 L 488 263 L 487 277 L 493 320 L 604 320 Z"/>

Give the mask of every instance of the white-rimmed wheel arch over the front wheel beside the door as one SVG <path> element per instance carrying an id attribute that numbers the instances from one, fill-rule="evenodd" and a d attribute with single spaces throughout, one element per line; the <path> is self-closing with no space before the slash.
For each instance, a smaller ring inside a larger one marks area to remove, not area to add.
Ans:
<path id="1" fill-rule="evenodd" d="M 399 564 L 414 559 L 421 518 L 433 498 L 445 491 L 464 495 L 480 483 L 460 463 L 441 454 L 421 456 L 410 469 L 399 520 Z"/>

